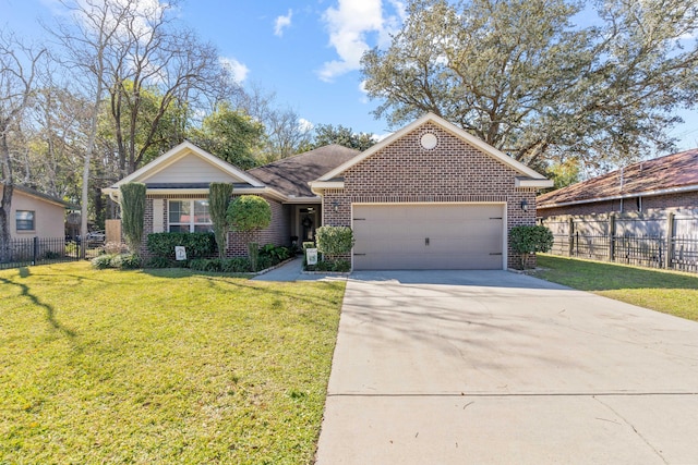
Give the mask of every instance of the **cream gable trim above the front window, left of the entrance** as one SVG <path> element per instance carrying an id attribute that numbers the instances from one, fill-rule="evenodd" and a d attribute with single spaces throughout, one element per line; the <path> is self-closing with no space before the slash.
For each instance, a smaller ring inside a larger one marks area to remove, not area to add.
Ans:
<path id="1" fill-rule="evenodd" d="M 166 169 L 167 167 L 171 166 L 172 163 L 174 163 L 177 160 L 193 154 L 197 157 L 200 157 L 201 159 L 205 160 L 206 162 L 210 163 L 212 166 L 216 167 L 217 169 L 219 169 L 221 172 L 229 174 L 231 178 L 237 179 L 243 183 L 248 183 L 253 187 L 264 187 L 264 184 L 262 182 L 260 182 L 258 180 L 254 179 L 253 176 L 251 176 L 250 174 L 245 173 L 244 171 L 240 170 L 239 168 L 228 163 L 227 161 L 207 152 L 206 150 L 204 150 L 203 148 L 192 144 L 189 140 L 184 140 L 183 143 L 179 144 L 176 147 L 172 147 L 170 150 L 168 150 L 166 154 L 159 156 L 158 158 L 156 158 L 155 160 L 151 161 L 149 163 L 147 163 L 146 166 L 142 167 L 141 169 L 134 171 L 133 173 L 129 174 L 128 176 L 125 176 L 124 179 L 122 179 L 121 181 L 117 182 L 116 184 L 111 185 L 110 187 L 108 187 L 107 189 L 109 191 L 118 191 L 119 187 L 122 184 L 125 183 L 131 183 L 131 182 L 147 182 L 147 179 L 155 175 L 156 173 L 158 173 L 159 171 Z"/>

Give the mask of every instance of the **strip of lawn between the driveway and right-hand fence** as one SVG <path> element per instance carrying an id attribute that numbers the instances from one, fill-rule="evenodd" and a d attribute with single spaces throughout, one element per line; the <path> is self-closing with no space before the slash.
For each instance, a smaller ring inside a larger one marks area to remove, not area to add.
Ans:
<path id="1" fill-rule="evenodd" d="M 539 255 L 538 278 L 698 321 L 698 276 Z"/>

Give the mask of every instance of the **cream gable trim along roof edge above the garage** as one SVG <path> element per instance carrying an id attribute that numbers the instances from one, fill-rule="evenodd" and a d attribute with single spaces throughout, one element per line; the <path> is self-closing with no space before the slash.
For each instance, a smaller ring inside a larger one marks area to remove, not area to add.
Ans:
<path id="1" fill-rule="evenodd" d="M 521 180 L 526 180 L 525 184 L 526 184 L 527 187 L 550 187 L 550 186 L 552 186 L 552 181 L 549 181 L 542 174 L 531 170 L 530 168 L 528 168 L 524 163 L 520 163 L 519 161 L 516 161 L 512 157 L 508 157 L 507 155 L 503 154 L 502 151 L 497 150 L 496 148 L 492 147 L 491 145 L 486 144 L 485 142 L 479 139 L 478 137 L 474 137 L 473 135 L 469 134 L 465 130 L 462 130 L 462 129 L 449 123 L 448 121 L 444 120 L 443 118 L 437 117 L 434 113 L 424 114 L 419 120 L 408 124 L 407 126 L 402 127 L 401 130 L 393 133 L 390 136 L 384 138 L 378 144 L 376 144 L 373 147 L 369 148 L 368 150 L 363 151 L 360 156 L 354 157 L 351 160 L 347 161 L 346 163 L 342 163 L 341 166 L 337 167 L 336 169 L 325 173 L 316 182 L 311 183 L 311 185 L 313 187 L 316 187 L 316 188 L 334 187 L 335 184 L 337 183 L 336 179 L 341 178 L 344 172 L 347 171 L 349 168 L 360 163 L 361 161 L 363 161 L 366 158 L 371 157 L 372 155 L 374 155 L 378 150 L 382 150 L 383 148 L 385 148 L 388 145 L 393 144 L 395 140 L 399 139 L 400 137 L 404 137 L 405 135 L 411 133 L 412 131 L 417 130 L 418 127 L 420 127 L 420 126 L 422 126 L 422 125 L 424 125 L 424 124 L 426 124 L 429 122 L 431 122 L 433 124 L 436 124 L 437 126 L 441 126 L 446 132 L 453 134 L 456 137 L 459 137 L 460 139 L 465 140 L 466 143 L 470 144 L 471 146 L 473 146 L 473 147 L 480 149 L 481 151 L 483 151 L 484 154 L 491 156 L 495 160 L 501 161 L 502 163 L 504 163 L 507 167 L 512 168 L 514 171 L 520 173 L 521 174 Z M 517 180 L 517 185 L 519 185 L 519 182 L 520 182 L 520 180 Z M 524 184 L 521 184 L 521 186 L 524 186 Z"/>

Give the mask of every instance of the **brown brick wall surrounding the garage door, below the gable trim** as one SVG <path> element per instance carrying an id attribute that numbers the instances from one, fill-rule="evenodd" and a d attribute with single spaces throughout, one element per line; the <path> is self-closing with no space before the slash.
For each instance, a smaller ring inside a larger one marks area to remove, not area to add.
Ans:
<path id="1" fill-rule="evenodd" d="M 420 145 L 425 133 L 438 138 L 428 150 Z M 325 191 L 323 222 L 351 225 L 352 203 L 449 203 L 507 204 L 507 231 L 535 223 L 535 189 L 515 188 L 520 175 L 460 138 L 428 123 L 350 168 L 344 189 Z M 526 199 L 529 210 L 520 208 Z M 337 210 L 335 211 L 335 205 Z M 508 266 L 518 257 L 508 250 Z"/>

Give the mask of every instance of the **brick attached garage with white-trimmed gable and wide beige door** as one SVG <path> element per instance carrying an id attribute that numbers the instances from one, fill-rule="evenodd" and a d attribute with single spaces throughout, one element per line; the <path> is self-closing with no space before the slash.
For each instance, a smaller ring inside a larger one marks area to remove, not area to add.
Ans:
<path id="1" fill-rule="evenodd" d="M 508 232 L 552 184 L 432 113 L 310 183 L 323 225 L 352 228 L 357 270 L 516 267 Z"/>

